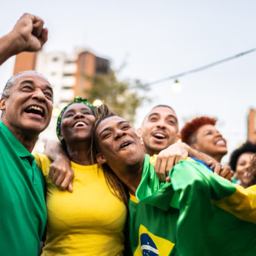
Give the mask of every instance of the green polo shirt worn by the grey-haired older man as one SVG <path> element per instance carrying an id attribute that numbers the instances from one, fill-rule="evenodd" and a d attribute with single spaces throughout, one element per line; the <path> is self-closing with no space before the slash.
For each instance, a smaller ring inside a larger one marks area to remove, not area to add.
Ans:
<path id="1" fill-rule="evenodd" d="M 46 224 L 44 176 L 0 121 L 0 255 L 35 256 Z"/>

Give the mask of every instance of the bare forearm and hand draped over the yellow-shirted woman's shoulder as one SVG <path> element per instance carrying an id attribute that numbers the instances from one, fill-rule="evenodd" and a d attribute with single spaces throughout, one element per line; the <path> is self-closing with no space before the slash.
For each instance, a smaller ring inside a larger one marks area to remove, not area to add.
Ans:
<path id="1" fill-rule="evenodd" d="M 53 161 L 50 165 L 49 178 L 62 190 L 67 188 L 69 192 L 73 192 L 74 172 L 71 169 L 70 159 L 62 149 L 61 143 L 48 140 L 44 146 L 44 154 Z"/>

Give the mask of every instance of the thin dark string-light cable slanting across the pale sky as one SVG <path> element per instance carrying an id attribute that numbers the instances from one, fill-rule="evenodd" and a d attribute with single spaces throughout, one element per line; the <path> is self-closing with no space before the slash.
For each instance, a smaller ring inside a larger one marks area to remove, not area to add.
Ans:
<path id="1" fill-rule="evenodd" d="M 223 62 L 228 62 L 230 60 L 234 60 L 236 58 L 239 58 L 239 57 L 242 57 L 246 54 L 249 54 L 249 53 L 253 53 L 256 51 L 256 48 L 253 48 L 253 49 L 250 49 L 248 51 L 244 51 L 242 53 L 238 53 L 236 55 L 233 55 L 231 57 L 226 57 L 225 59 L 222 59 L 222 60 L 217 60 L 217 62 L 212 62 L 210 64 L 206 64 L 204 66 L 200 66 L 199 68 L 194 68 L 194 69 L 190 69 L 189 71 L 185 71 L 185 72 L 182 72 L 182 73 L 178 73 L 176 75 L 171 75 L 169 77 L 165 77 L 165 78 L 162 78 L 162 79 L 159 79 L 159 80 L 156 80 L 154 82 L 149 82 L 147 84 L 140 84 L 140 86 L 142 87 L 147 87 L 147 86 L 151 86 L 152 84 L 158 84 L 158 83 L 161 83 L 161 82 L 165 82 L 167 80 L 174 80 L 174 79 L 178 79 L 179 77 L 183 77 L 185 75 L 188 75 L 188 74 L 191 74 L 191 73 L 196 73 L 196 72 L 199 72 L 199 71 L 202 71 L 203 69 L 206 69 L 206 68 L 211 68 L 212 66 L 216 66 L 216 65 L 219 65 Z"/>

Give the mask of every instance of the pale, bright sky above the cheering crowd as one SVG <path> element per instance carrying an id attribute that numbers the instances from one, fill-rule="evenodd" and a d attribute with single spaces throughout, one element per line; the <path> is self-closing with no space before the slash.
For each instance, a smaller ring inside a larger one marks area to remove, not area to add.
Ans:
<path id="1" fill-rule="evenodd" d="M 49 30 L 44 52 L 72 53 L 76 46 L 111 60 L 120 80 L 154 82 L 256 47 L 255 0 L 44 0 L 3 1 L 0 36 L 24 12 L 42 17 Z M 0 66 L 0 91 L 12 75 L 14 57 Z M 179 79 L 154 84 L 136 113 L 138 128 L 157 104 L 172 106 L 179 127 L 195 116 L 218 118 L 232 152 L 247 136 L 256 109 L 256 52 Z M 228 161 L 228 156 L 224 158 Z"/>

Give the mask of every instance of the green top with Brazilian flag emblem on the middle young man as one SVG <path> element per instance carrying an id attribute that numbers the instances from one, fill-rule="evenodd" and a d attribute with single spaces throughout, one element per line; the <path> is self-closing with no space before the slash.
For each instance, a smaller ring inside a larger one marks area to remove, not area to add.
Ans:
<path id="1" fill-rule="evenodd" d="M 137 192 L 145 192 L 145 183 L 150 188 L 156 188 L 158 192 L 160 183 L 154 170 L 149 163 L 149 156 L 145 156 L 143 176 Z M 168 206 L 163 210 L 155 202 L 161 199 L 172 199 L 174 191 L 172 186 L 164 190 L 162 196 L 159 193 L 149 197 L 153 200 L 138 201 L 135 196 L 130 195 L 129 199 L 129 242 L 133 255 L 177 255 L 176 252 L 176 223 L 179 217 L 179 210 Z M 136 196 L 138 194 L 136 192 Z M 149 192 L 149 191 L 148 191 Z M 144 196 L 143 196 L 144 197 Z M 175 205 L 173 205 L 175 206 Z"/>

